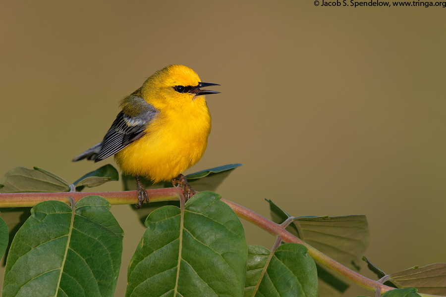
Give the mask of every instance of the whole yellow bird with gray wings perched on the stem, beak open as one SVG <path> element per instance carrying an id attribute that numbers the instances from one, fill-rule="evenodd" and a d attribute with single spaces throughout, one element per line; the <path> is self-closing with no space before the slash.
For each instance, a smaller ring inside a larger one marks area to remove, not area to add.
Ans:
<path id="1" fill-rule="evenodd" d="M 211 131 L 211 114 L 201 90 L 218 84 L 202 83 L 184 65 L 169 65 L 149 77 L 141 88 L 122 99 L 118 113 L 102 142 L 72 161 L 95 162 L 114 154 L 121 171 L 136 177 L 138 203 L 149 202 L 138 179 L 179 184 L 186 199 L 193 189 L 181 174 L 203 156 Z"/>

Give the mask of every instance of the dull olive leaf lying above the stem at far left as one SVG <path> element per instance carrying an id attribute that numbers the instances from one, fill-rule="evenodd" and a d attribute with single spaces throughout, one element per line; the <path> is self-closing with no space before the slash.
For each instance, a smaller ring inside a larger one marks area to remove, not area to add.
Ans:
<path id="1" fill-rule="evenodd" d="M 68 192 L 70 187 L 63 178 L 44 169 L 16 167 L 8 171 L 0 193 Z"/>

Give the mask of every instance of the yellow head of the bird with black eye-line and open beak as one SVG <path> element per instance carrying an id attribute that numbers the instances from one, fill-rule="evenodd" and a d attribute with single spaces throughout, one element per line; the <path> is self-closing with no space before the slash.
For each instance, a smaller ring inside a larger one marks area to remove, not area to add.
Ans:
<path id="1" fill-rule="evenodd" d="M 193 101 L 206 102 L 203 95 L 220 92 L 203 90 L 218 84 L 203 83 L 197 73 L 184 65 L 169 65 L 149 77 L 142 86 L 143 98 L 150 104 L 181 107 Z M 198 103 L 198 102 L 197 102 Z"/>

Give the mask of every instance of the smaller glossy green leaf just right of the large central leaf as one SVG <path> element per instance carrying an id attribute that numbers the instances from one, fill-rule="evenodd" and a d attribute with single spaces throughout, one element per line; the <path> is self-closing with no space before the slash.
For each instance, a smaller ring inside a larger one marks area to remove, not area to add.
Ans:
<path id="1" fill-rule="evenodd" d="M 244 297 L 317 297 L 316 265 L 308 249 L 298 244 L 280 245 L 267 265 L 270 252 L 264 247 L 248 249 Z M 263 278 L 256 288 L 259 278 Z M 257 289 L 257 291 L 256 291 Z"/>

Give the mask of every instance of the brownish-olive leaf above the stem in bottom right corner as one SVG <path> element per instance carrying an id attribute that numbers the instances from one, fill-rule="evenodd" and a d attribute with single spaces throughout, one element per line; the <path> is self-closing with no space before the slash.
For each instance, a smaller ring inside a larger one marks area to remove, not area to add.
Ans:
<path id="1" fill-rule="evenodd" d="M 389 281 L 398 288 L 415 287 L 423 294 L 446 296 L 446 263 L 415 266 L 391 273 Z"/>

